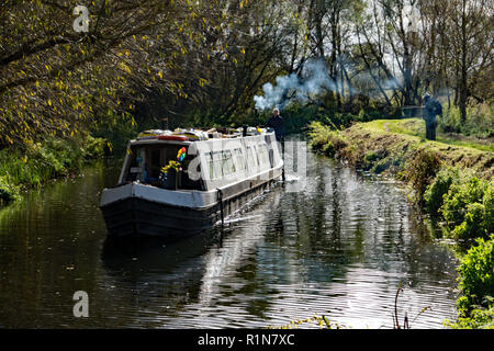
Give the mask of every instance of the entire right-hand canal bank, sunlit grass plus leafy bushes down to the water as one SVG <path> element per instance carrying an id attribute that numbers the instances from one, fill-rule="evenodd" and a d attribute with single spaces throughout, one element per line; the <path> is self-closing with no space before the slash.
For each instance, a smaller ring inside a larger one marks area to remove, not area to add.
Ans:
<path id="1" fill-rule="evenodd" d="M 440 225 L 442 235 L 469 249 L 459 252 L 458 320 L 447 325 L 494 328 L 494 146 L 461 135 L 440 134 L 430 141 L 424 133 L 416 118 L 358 123 L 344 131 L 310 125 L 313 149 L 403 181 L 411 201 Z"/>

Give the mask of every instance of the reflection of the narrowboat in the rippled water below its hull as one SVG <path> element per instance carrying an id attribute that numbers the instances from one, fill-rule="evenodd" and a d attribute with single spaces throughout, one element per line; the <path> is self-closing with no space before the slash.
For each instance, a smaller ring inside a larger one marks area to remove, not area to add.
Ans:
<path id="1" fill-rule="evenodd" d="M 138 305 L 155 327 L 181 327 L 176 314 L 182 309 L 192 312 L 201 327 L 214 327 L 207 325 L 209 307 L 216 308 L 214 299 L 221 296 L 222 284 L 229 284 L 228 280 L 242 271 L 263 239 L 263 228 L 252 226 L 261 215 L 249 214 L 249 210 L 268 194 L 279 199 L 282 193 L 276 188 L 281 183 L 277 185 L 226 217 L 224 226 L 181 240 L 106 237 L 102 261 L 110 284 L 128 291 L 134 299 L 128 308 L 134 310 Z M 122 301 L 120 304 L 127 308 Z M 213 314 L 221 318 L 216 312 Z M 136 325 L 142 324 L 136 319 Z"/>

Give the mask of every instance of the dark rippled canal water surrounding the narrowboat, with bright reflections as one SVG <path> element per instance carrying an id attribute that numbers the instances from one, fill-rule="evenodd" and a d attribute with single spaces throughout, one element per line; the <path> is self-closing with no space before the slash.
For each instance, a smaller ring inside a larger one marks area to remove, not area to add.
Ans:
<path id="1" fill-rule="evenodd" d="M 97 161 L 0 210 L 0 327 L 265 328 L 324 315 L 393 328 L 398 286 L 401 324 L 456 317 L 458 262 L 393 182 L 308 151 L 306 178 L 289 170 L 223 231 L 122 245 L 98 207 L 120 167 Z M 74 316 L 78 291 L 87 318 Z"/>

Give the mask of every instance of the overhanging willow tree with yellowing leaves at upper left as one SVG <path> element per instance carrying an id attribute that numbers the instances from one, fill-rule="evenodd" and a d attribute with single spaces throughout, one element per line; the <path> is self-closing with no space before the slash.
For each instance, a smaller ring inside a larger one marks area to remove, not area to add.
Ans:
<path id="1" fill-rule="evenodd" d="M 99 0 L 87 32 L 76 32 L 76 1 L 0 4 L 0 146 L 26 147 L 43 135 L 75 136 L 130 116 L 146 89 L 183 93 L 183 35 L 200 2 Z M 160 55 L 149 55 L 160 50 Z"/>

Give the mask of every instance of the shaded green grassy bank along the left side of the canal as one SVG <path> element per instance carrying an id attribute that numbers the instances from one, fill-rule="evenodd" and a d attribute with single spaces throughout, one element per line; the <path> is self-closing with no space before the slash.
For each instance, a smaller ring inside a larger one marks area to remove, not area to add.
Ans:
<path id="1" fill-rule="evenodd" d="M 78 139 L 48 138 L 24 149 L 0 150 L 0 205 L 15 201 L 23 190 L 76 173 L 86 160 L 102 156 L 105 145 L 102 138 L 88 135 Z"/>

